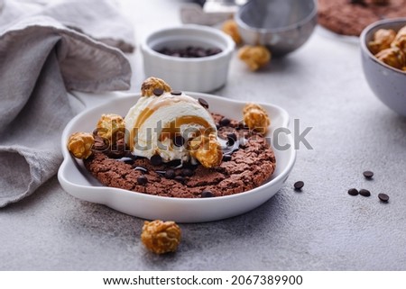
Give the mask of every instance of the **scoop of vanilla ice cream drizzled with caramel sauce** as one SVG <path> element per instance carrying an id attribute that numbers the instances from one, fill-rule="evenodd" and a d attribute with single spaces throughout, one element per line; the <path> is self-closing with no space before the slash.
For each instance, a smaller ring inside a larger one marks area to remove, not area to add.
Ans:
<path id="1" fill-rule="evenodd" d="M 184 93 L 143 96 L 125 116 L 125 142 L 132 153 L 144 158 L 158 154 L 163 162 L 189 161 L 186 141 L 209 132 L 217 135 L 213 117 Z M 175 138 L 184 140 L 185 145 L 175 144 Z"/>

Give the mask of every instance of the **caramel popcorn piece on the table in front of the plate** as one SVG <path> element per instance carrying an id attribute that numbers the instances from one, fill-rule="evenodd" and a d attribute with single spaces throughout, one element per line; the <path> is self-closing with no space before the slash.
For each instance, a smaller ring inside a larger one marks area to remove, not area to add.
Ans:
<path id="1" fill-rule="evenodd" d="M 180 244 L 180 227 L 174 221 L 144 221 L 141 240 L 156 254 L 174 252 Z"/>

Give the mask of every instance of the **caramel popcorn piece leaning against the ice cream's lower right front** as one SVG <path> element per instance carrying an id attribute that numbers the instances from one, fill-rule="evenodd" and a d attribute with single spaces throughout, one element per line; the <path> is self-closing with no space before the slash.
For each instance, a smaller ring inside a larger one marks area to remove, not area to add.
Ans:
<path id="1" fill-rule="evenodd" d="M 217 167 L 223 159 L 223 150 L 217 141 L 216 133 L 200 135 L 189 141 L 190 155 L 198 159 L 203 167 Z"/>

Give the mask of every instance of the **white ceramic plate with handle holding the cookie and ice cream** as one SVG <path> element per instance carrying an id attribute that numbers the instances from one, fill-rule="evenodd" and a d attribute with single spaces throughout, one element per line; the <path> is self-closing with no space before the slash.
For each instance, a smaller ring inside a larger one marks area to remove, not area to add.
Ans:
<path id="1" fill-rule="evenodd" d="M 214 95 L 188 93 L 193 97 L 202 97 L 208 101 L 210 111 L 223 113 L 228 118 L 241 119 L 245 103 Z M 248 212 L 269 200 L 276 194 L 288 178 L 294 165 L 296 152 L 293 148 L 291 134 L 279 134 L 280 145 L 289 144 L 290 149 L 274 149 L 276 170 L 265 184 L 241 194 L 216 198 L 181 199 L 161 197 L 150 194 L 134 193 L 101 185 L 86 168 L 83 162 L 73 158 L 66 147 L 69 135 L 75 131 L 93 131 L 102 113 L 125 115 L 135 104 L 140 95 L 129 95 L 117 98 L 113 102 L 102 104 L 73 118 L 62 133 L 61 149 L 63 163 L 58 172 L 60 185 L 69 194 L 78 199 L 92 203 L 102 203 L 119 212 L 136 217 L 178 222 L 216 221 Z M 262 104 L 271 117 L 272 132 L 278 128 L 287 128 L 289 115 L 285 110 L 271 104 Z M 272 140 L 272 139 L 271 139 Z"/>

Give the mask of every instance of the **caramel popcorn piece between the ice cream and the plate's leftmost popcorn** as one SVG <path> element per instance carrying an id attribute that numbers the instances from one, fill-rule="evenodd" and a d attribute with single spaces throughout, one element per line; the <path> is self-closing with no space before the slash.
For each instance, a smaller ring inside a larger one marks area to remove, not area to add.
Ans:
<path id="1" fill-rule="evenodd" d="M 125 135 L 125 120 L 118 114 L 102 114 L 97 122 L 97 136 L 106 143 L 115 143 Z"/>

